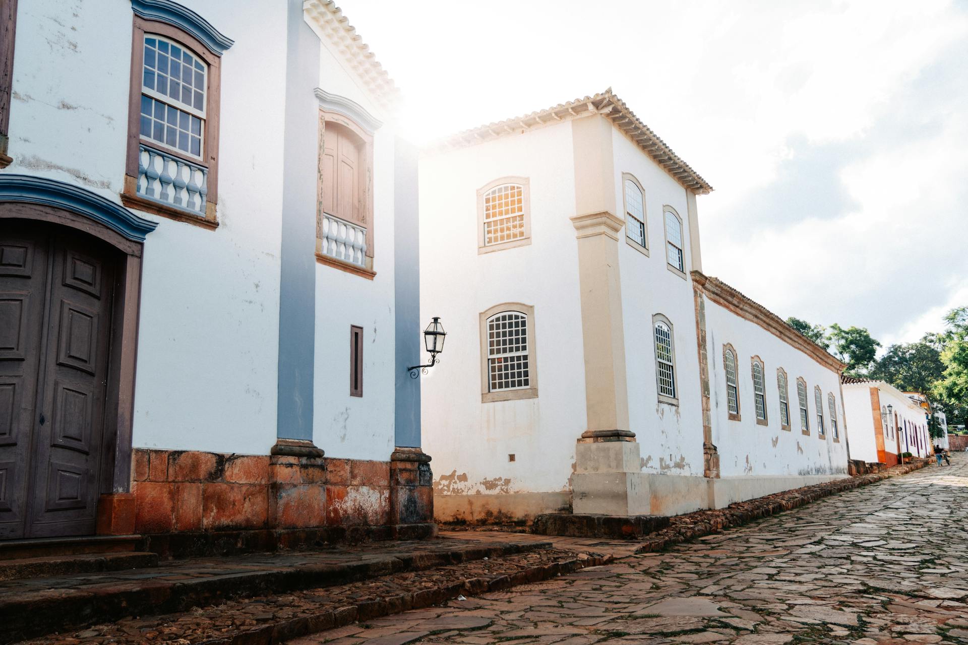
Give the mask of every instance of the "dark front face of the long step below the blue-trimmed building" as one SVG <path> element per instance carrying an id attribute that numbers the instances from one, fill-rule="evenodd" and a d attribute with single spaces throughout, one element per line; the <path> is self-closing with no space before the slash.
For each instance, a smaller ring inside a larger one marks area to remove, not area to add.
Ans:
<path id="1" fill-rule="evenodd" d="M 392 573 L 425 571 L 484 558 L 499 558 L 550 546 L 551 542 L 461 545 L 438 553 L 387 556 L 366 562 L 303 565 L 188 580 L 149 578 L 74 589 L 45 589 L 0 601 L 0 643 L 43 636 L 56 630 L 113 622 L 126 616 L 181 612 L 230 599 L 330 587 Z"/>

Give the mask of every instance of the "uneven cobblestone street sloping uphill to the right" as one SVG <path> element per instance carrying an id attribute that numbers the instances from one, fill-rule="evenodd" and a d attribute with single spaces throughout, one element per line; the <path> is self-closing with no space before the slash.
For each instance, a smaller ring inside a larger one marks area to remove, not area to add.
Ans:
<path id="1" fill-rule="evenodd" d="M 968 643 L 968 458 L 547 582 L 290 645 Z"/>

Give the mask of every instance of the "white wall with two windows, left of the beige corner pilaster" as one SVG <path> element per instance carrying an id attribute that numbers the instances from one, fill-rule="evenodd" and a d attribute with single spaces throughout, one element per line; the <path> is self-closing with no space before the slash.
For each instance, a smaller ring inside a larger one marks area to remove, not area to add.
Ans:
<path id="1" fill-rule="evenodd" d="M 568 490 L 586 429 L 571 160 L 569 123 L 421 159 L 420 317 L 447 331 L 421 377 L 437 494 Z M 478 254 L 477 190 L 508 175 L 529 178 L 531 244 Z M 479 313 L 502 303 L 534 307 L 538 396 L 482 403 Z"/>

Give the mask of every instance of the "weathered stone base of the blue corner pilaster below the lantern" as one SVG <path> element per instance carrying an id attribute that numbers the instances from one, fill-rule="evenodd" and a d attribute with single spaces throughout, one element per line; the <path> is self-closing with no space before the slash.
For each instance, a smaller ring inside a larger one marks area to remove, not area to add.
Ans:
<path id="1" fill-rule="evenodd" d="M 430 455 L 419 448 L 396 448 L 390 455 L 390 524 L 434 521 L 434 475 Z"/>

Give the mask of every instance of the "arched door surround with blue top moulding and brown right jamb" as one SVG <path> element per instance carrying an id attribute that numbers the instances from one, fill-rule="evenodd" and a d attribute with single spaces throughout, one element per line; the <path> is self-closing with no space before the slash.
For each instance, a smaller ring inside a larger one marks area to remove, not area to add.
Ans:
<path id="1" fill-rule="evenodd" d="M 101 471 L 98 503 L 98 533 L 124 533 L 126 527 L 117 525 L 118 518 L 114 515 L 118 509 L 111 498 L 125 497 L 131 489 L 141 258 L 145 237 L 158 224 L 71 184 L 32 175 L 3 174 L 0 175 L 0 220 L 8 219 L 45 221 L 74 228 L 124 254 L 112 304 L 104 422 L 105 441 L 109 442 L 110 450 L 106 452 L 107 461 Z M 134 500 L 131 502 L 133 510 Z"/>

